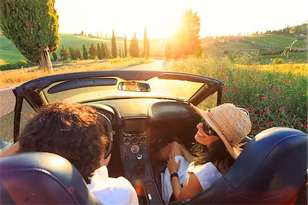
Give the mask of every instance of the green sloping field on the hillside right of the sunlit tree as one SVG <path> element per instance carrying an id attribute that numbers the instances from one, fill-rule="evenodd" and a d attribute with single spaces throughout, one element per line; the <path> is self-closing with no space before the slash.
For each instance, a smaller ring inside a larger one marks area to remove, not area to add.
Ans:
<path id="1" fill-rule="evenodd" d="M 291 45 L 292 51 L 283 55 L 283 51 Z M 307 37 L 299 38 L 293 34 L 257 34 L 220 38 L 216 43 L 205 43 L 203 51 L 207 56 L 226 55 L 241 64 L 271 64 L 274 58 L 282 58 L 284 62 L 307 62 L 307 50 L 296 51 L 298 48 L 307 49 Z"/>

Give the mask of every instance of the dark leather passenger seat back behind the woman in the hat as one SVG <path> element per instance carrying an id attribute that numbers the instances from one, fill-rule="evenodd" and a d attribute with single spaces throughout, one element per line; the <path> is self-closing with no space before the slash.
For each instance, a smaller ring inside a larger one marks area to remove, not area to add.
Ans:
<path id="1" fill-rule="evenodd" d="M 189 200 L 171 204 L 294 204 L 305 176 L 307 134 L 270 128 L 248 143 L 220 180 Z"/>

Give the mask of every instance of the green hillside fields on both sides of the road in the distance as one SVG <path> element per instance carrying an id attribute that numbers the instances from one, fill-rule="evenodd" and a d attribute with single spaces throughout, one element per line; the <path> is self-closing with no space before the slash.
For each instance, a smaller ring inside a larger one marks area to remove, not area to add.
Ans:
<path id="1" fill-rule="evenodd" d="M 220 38 L 217 43 L 203 43 L 203 51 L 206 56 L 218 55 L 229 56 L 231 60 L 238 63 L 245 63 L 245 56 L 254 58 L 260 64 L 270 64 L 274 58 L 283 58 L 284 62 L 307 62 L 307 51 L 292 51 L 288 56 L 281 56 L 285 47 L 290 46 L 294 40 L 293 48 L 307 48 L 307 38 L 298 38 L 292 34 L 257 34 L 253 36 L 233 37 L 232 40 L 225 40 Z M 224 37 L 228 39 L 228 37 Z M 205 40 L 201 40 L 205 42 Z M 81 49 L 82 45 L 86 45 L 89 49 L 90 45 L 94 43 L 107 43 L 111 49 L 111 40 L 105 38 L 94 38 L 89 36 L 79 36 L 74 34 L 60 34 L 60 45 L 57 49 L 57 56 L 60 54 L 62 45 L 67 49 Z M 123 38 L 116 38 L 117 48 L 123 51 Z M 166 41 L 164 39 L 150 40 L 150 51 L 153 57 L 164 57 Z M 129 39 L 127 39 L 127 49 L 129 49 Z M 142 52 L 143 42 L 139 41 L 140 53 Z M 233 49 L 261 49 L 261 51 L 236 51 Z M 244 58 L 244 61 L 243 61 Z M 25 60 L 21 53 L 16 49 L 13 43 L 5 36 L 0 36 L 0 64 L 17 62 L 18 60 Z M 251 59 L 248 60 L 251 62 Z"/>

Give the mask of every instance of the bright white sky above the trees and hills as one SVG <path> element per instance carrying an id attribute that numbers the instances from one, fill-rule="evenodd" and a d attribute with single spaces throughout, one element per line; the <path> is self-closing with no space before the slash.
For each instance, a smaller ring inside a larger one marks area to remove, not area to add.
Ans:
<path id="1" fill-rule="evenodd" d="M 198 12 L 200 36 L 236 35 L 282 29 L 308 21 L 307 0 L 55 0 L 60 33 L 167 38 L 181 16 Z"/>

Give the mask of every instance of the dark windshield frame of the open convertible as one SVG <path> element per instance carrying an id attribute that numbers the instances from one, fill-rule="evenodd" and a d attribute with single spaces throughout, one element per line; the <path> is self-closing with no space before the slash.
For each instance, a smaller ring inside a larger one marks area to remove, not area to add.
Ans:
<path id="1" fill-rule="evenodd" d="M 158 77 L 160 79 L 169 79 L 169 80 L 188 80 L 192 82 L 202 82 L 209 85 L 209 88 L 201 86 L 201 88 L 190 97 L 186 102 L 198 105 L 209 97 L 209 95 L 218 91 L 217 104 L 221 104 L 222 99 L 222 87 L 224 84 L 222 82 L 215 80 L 211 77 L 206 77 L 204 75 L 197 75 L 192 73 L 179 73 L 179 72 L 169 72 L 169 71 L 133 71 L 133 70 L 108 70 L 108 71 L 87 71 L 87 72 L 78 72 L 78 73 L 64 73 L 59 75 L 50 75 L 47 77 L 40 77 L 35 80 L 30 80 L 25 82 L 21 86 L 16 87 L 13 90 L 13 93 L 16 97 L 15 104 L 15 114 L 14 114 L 14 142 L 18 141 L 19 137 L 19 123 L 21 119 L 21 106 L 23 100 L 27 100 L 29 105 L 36 109 L 40 106 L 48 104 L 46 96 L 42 90 L 47 88 L 55 82 L 62 82 L 67 80 L 78 80 L 86 78 L 95 78 L 95 77 L 119 77 L 126 81 L 146 81 L 153 77 Z M 126 96 L 127 97 L 127 96 Z M 145 97 L 146 98 L 146 97 Z M 149 98 L 149 97 L 147 97 Z M 165 99 L 165 98 L 164 98 Z M 166 99 L 170 99 L 166 97 Z M 177 99 L 172 97 L 171 99 Z M 80 101 L 79 101 L 80 102 Z M 85 101 L 81 102 L 85 103 Z"/>

